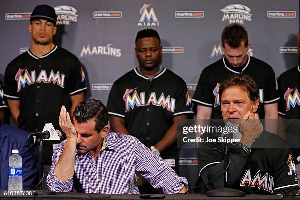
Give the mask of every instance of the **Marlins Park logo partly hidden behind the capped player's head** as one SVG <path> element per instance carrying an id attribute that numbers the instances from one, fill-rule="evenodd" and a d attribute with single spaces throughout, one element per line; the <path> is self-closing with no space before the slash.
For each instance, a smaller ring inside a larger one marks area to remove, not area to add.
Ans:
<path id="1" fill-rule="evenodd" d="M 54 7 L 57 15 L 57 25 L 70 25 L 70 22 L 77 22 L 77 10 L 69 5 L 59 5 Z"/>

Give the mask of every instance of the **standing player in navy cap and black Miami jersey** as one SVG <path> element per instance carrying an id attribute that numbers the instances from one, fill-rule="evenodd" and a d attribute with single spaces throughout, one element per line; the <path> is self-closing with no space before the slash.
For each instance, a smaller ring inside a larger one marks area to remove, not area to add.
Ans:
<path id="1" fill-rule="evenodd" d="M 54 8 L 36 6 L 28 25 L 31 47 L 5 70 L 4 96 L 17 126 L 29 133 L 42 131 L 45 123 L 59 129 L 59 108 L 66 105 L 72 115 L 87 89 L 78 58 L 53 44 L 56 19 Z M 44 177 L 52 164 L 53 145 L 59 142 L 45 143 Z"/>

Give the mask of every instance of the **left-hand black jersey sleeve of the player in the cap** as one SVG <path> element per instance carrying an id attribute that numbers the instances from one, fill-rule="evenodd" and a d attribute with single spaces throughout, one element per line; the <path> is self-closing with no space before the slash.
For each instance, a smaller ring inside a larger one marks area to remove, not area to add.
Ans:
<path id="1" fill-rule="evenodd" d="M 17 82 L 15 80 L 16 74 L 13 71 L 13 67 L 8 64 L 4 75 L 4 96 L 8 99 L 19 99 L 17 92 Z M 20 86 L 22 87 L 22 86 Z"/>

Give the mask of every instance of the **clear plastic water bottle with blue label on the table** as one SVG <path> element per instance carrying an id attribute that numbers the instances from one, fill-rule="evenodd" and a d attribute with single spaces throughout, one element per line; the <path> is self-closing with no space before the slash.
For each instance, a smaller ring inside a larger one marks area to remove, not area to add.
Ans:
<path id="1" fill-rule="evenodd" d="M 22 190 L 22 158 L 18 153 L 18 149 L 13 149 L 8 160 L 8 190 Z"/>

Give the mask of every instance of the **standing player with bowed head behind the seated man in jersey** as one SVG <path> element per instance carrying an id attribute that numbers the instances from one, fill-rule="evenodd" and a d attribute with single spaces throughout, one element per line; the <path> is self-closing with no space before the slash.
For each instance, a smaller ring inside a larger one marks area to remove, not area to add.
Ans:
<path id="1" fill-rule="evenodd" d="M 274 71 L 267 63 L 247 55 L 250 42 L 245 28 L 238 24 L 226 26 L 221 41 L 225 56 L 202 71 L 192 99 L 197 104 L 197 119 L 222 118 L 218 91 L 221 81 L 230 74 L 250 75 L 260 90 L 260 117 L 277 119 L 279 96 Z"/>

